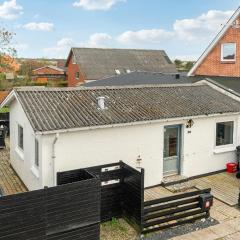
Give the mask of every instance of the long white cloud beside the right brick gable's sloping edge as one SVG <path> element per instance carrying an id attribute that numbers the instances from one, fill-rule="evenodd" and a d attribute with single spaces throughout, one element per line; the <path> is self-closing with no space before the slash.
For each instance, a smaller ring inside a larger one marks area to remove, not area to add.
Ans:
<path id="1" fill-rule="evenodd" d="M 189 42 L 210 41 L 232 14 L 233 11 L 210 10 L 196 18 L 176 20 L 170 30 L 157 28 L 126 31 L 120 34 L 117 40 L 122 44 L 158 44 L 170 39 Z"/>

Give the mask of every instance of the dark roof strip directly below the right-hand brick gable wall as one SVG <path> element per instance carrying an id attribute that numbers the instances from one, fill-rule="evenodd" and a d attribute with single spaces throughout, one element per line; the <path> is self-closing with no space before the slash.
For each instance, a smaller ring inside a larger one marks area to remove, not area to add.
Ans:
<path id="1" fill-rule="evenodd" d="M 194 76 L 189 77 L 191 82 L 197 82 L 199 80 L 206 79 L 219 87 L 224 88 L 230 92 L 235 91 L 240 94 L 240 77 L 214 77 L 214 76 Z M 239 95 L 240 96 L 240 95 Z"/>

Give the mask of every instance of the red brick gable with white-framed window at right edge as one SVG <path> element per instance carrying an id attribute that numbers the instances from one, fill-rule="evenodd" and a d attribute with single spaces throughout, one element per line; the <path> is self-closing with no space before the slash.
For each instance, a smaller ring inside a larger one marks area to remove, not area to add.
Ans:
<path id="1" fill-rule="evenodd" d="M 224 25 L 188 75 L 240 77 L 240 8 Z"/>

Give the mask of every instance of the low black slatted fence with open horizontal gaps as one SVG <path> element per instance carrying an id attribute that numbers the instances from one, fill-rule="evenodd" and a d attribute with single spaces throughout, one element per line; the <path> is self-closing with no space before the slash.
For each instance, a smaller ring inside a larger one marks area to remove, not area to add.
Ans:
<path id="1" fill-rule="evenodd" d="M 163 230 L 209 217 L 209 209 L 202 209 L 200 195 L 211 189 L 192 191 L 144 203 L 142 233 Z"/>

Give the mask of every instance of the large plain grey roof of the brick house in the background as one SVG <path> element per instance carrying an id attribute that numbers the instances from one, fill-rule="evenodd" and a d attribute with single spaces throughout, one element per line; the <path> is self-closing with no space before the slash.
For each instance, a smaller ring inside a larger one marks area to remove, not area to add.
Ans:
<path id="1" fill-rule="evenodd" d="M 86 80 L 98 80 L 130 71 L 177 72 L 163 50 L 142 49 L 103 49 L 103 48 L 72 48 L 75 62 L 80 66 Z"/>

